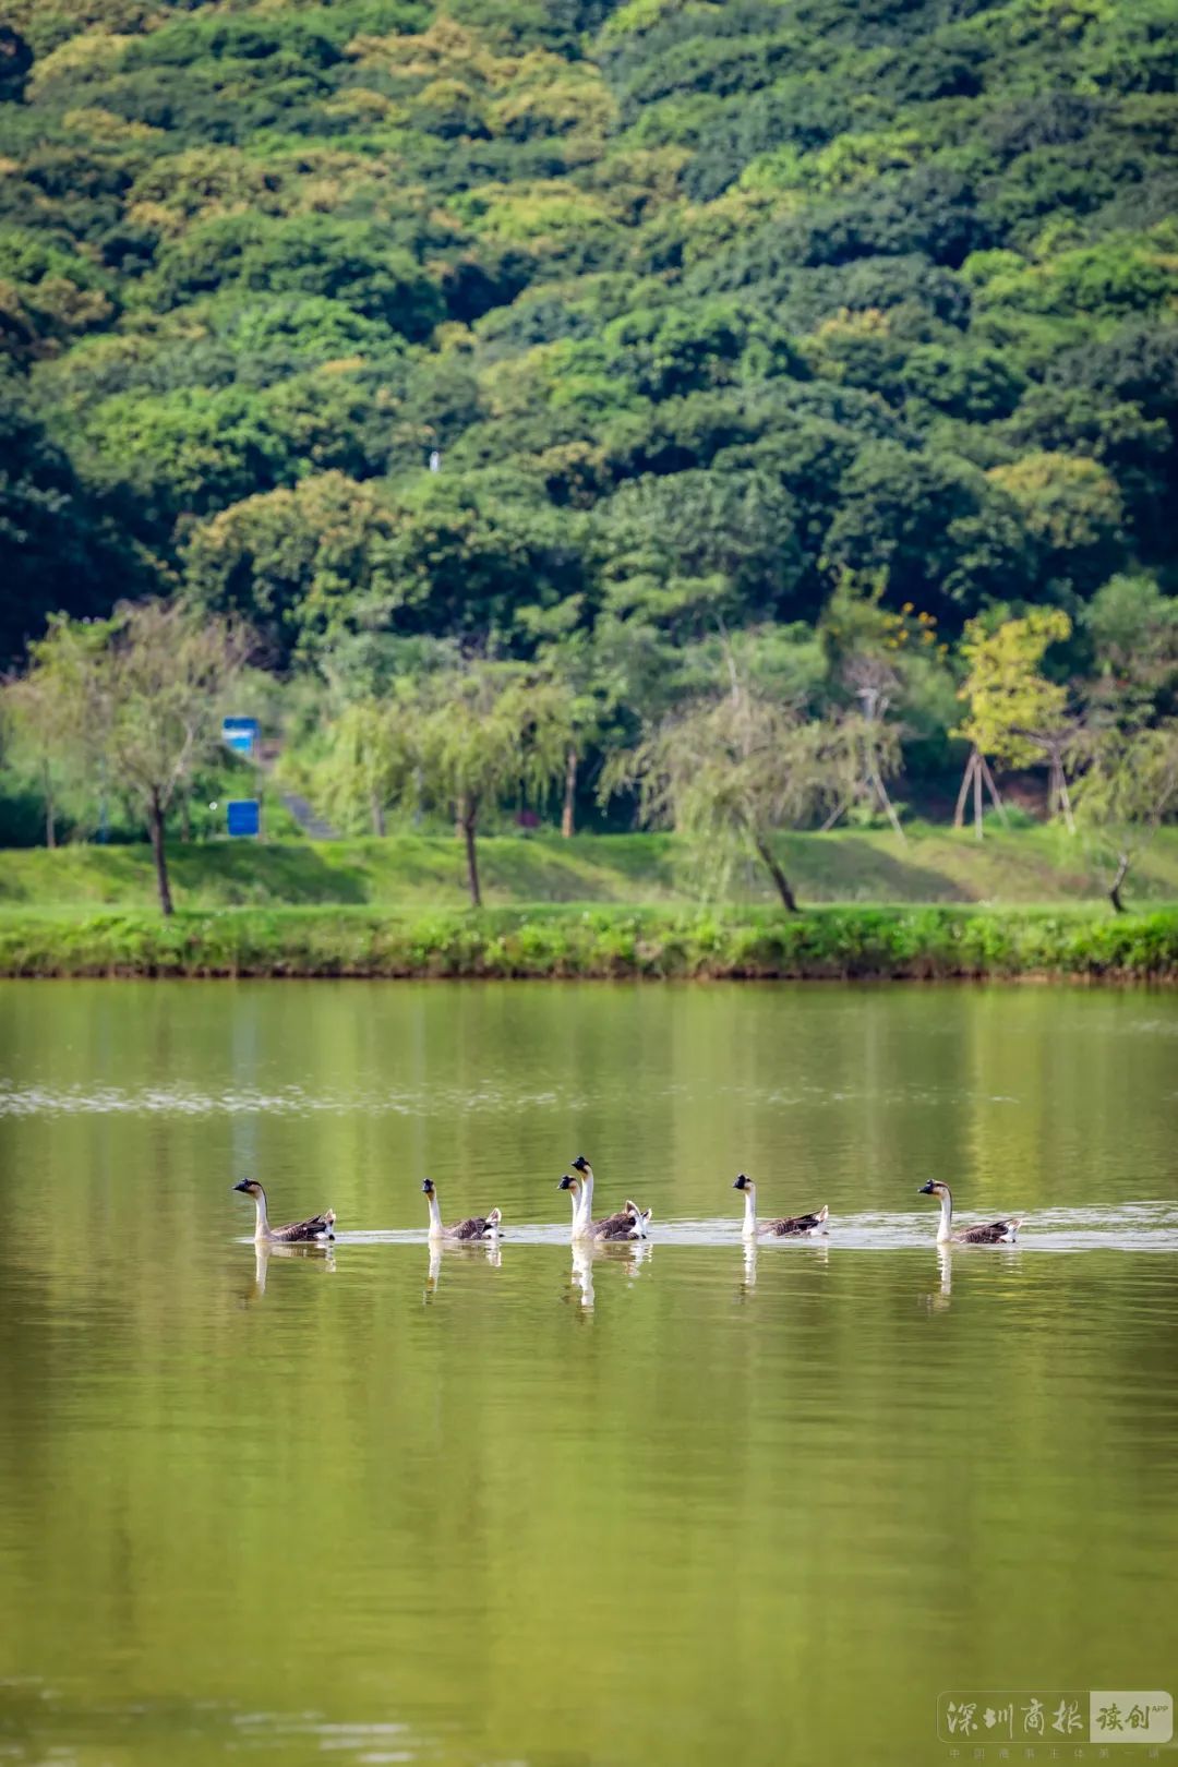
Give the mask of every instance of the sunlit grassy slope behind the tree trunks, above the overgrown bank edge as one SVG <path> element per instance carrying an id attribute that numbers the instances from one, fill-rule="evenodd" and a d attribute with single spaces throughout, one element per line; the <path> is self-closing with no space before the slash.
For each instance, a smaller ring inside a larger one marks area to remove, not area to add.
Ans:
<path id="1" fill-rule="evenodd" d="M 917 825 L 904 845 L 890 832 L 839 830 L 782 836 L 777 846 L 804 903 L 1044 903 L 1104 894 L 1083 843 L 1060 829 L 994 829 L 975 841 L 970 832 Z M 491 906 L 696 898 L 691 855 L 669 834 L 496 836 L 480 841 L 480 868 Z M 182 908 L 466 905 L 461 846 L 447 836 L 175 846 L 171 876 Z M 1134 868 L 1129 894 L 1141 903 L 1178 901 L 1178 829 L 1159 834 Z M 733 899 L 768 905 L 763 875 L 735 878 Z M 0 852 L 0 908 L 42 903 L 148 906 L 150 853 L 147 846 Z"/>

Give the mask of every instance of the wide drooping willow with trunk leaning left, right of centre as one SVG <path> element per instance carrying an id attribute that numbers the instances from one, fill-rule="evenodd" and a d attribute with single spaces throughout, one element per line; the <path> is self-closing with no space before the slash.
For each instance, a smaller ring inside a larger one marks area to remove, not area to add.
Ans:
<path id="1" fill-rule="evenodd" d="M 602 772 L 602 799 L 638 792 L 646 827 L 669 827 L 699 859 L 701 876 L 722 887 L 742 855 L 756 855 L 782 905 L 798 901 L 774 834 L 811 823 L 842 802 L 862 763 L 853 719 L 805 719 L 788 705 L 733 682 L 717 698 L 692 700 L 653 724 Z"/>

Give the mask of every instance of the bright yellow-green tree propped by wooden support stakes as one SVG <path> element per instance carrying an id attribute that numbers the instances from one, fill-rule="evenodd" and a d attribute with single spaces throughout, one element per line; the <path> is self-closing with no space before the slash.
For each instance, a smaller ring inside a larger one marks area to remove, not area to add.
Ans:
<path id="1" fill-rule="evenodd" d="M 1001 813 L 993 767 L 1031 767 L 1044 755 L 1051 767 L 1051 799 L 1063 804 L 1070 820 L 1063 770 L 1067 687 L 1047 680 L 1040 670 L 1047 648 L 1070 631 L 1072 622 L 1061 608 L 1033 608 L 993 631 L 982 620 L 966 620 L 961 654 L 968 673 L 957 698 L 966 701 L 968 714 L 950 735 L 970 742 L 970 760 L 957 793 L 955 829 L 964 823 L 973 790 L 973 829 L 982 839 L 982 788 Z"/>

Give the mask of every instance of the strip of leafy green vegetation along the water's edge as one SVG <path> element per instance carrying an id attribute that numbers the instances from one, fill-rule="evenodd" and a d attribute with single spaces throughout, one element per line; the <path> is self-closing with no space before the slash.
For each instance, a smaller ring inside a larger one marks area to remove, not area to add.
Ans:
<path id="1" fill-rule="evenodd" d="M 5 910 L 0 977 L 1178 982 L 1178 908 Z"/>

